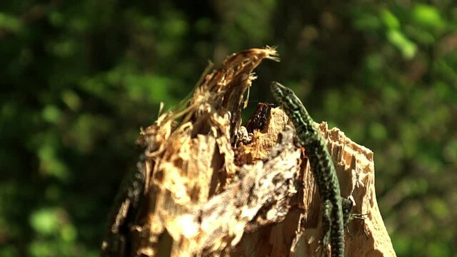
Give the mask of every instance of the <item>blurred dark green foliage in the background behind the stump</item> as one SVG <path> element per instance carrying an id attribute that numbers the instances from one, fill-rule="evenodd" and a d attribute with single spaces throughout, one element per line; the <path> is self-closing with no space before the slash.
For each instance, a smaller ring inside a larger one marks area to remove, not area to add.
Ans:
<path id="1" fill-rule="evenodd" d="M 207 59 L 257 69 L 375 152 L 398 256 L 457 252 L 457 6 L 433 1 L 1 1 L 0 256 L 98 256 L 141 126 Z"/>

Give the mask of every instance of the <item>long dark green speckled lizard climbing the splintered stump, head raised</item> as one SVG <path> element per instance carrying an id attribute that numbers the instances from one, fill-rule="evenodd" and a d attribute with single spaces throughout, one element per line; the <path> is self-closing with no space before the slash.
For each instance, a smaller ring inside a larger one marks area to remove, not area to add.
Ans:
<path id="1" fill-rule="evenodd" d="M 273 98 L 295 126 L 298 143 L 304 146 L 311 171 L 323 202 L 323 236 L 327 248 L 331 243 L 331 256 L 344 256 L 344 227 L 350 220 L 352 202 L 341 197 L 341 190 L 326 141 L 313 126 L 313 119 L 291 89 L 276 81 L 271 83 Z"/>

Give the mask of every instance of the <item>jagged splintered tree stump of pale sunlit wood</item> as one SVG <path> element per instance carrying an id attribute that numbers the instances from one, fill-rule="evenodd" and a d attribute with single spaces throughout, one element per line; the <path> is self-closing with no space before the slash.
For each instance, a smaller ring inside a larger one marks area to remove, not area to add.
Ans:
<path id="1" fill-rule="evenodd" d="M 183 106 L 141 133 L 144 201 L 130 228 L 129 256 L 318 256 L 321 202 L 293 126 L 263 106 L 241 126 L 243 96 L 275 49 L 229 56 L 204 74 Z M 338 129 L 328 141 L 353 221 L 346 256 L 395 256 L 374 191 L 373 153 Z"/>

